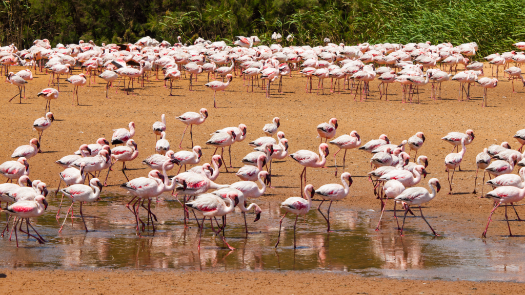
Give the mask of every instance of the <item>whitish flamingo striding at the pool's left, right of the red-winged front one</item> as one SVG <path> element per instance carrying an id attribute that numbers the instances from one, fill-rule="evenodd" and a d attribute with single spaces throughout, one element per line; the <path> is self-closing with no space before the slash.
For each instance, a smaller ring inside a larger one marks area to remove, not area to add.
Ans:
<path id="1" fill-rule="evenodd" d="M 98 178 L 91 178 L 91 181 L 89 182 L 89 186 L 83 185 L 83 184 L 74 184 L 69 187 L 60 189 L 60 192 L 62 192 L 62 194 L 65 194 L 71 198 L 72 203 L 69 209 L 67 210 L 66 217 L 64 218 L 64 222 L 62 223 L 62 226 L 58 230 L 58 233 L 62 232 L 62 228 L 64 227 L 64 224 L 66 223 L 67 216 L 69 215 L 69 212 L 73 208 L 73 205 L 75 205 L 76 201 L 80 203 L 80 216 L 82 217 L 82 222 L 84 223 L 84 228 L 86 229 L 86 233 L 88 233 L 89 230 L 88 230 L 88 227 L 86 226 L 84 215 L 82 214 L 82 203 L 93 203 L 97 201 L 97 199 L 100 197 L 101 191 L 102 191 L 102 184 L 100 183 Z M 71 211 L 71 222 L 72 221 L 73 221 L 73 213 Z"/>

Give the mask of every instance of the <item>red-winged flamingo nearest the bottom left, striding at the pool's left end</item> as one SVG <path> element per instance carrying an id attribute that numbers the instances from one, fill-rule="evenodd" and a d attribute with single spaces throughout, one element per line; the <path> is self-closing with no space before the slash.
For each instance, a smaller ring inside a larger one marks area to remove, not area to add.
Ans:
<path id="1" fill-rule="evenodd" d="M 3 211 L 9 215 L 13 215 L 17 218 L 20 218 L 22 219 L 22 222 L 24 221 L 24 219 L 26 219 L 26 224 L 29 225 L 31 228 L 33 228 L 38 238 L 29 234 L 29 230 L 27 232 L 22 230 L 22 223 L 20 223 L 20 231 L 22 231 L 22 233 L 24 234 L 27 234 L 28 236 L 34 237 L 38 241 L 38 244 L 44 244 L 46 241 L 40 236 L 40 234 L 38 234 L 38 232 L 33 227 L 33 225 L 29 223 L 29 218 L 41 216 L 42 214 L 44 214 L 44 211 L 46 209 L 47 209 L 46 198 L 40 195 L 40 196 L 35 197 L 33 201 L 15 202 L 11 204 L 10 206 L 8 206 L 6 209 L 0 209 L 0 212 Z M 18 225 L 18 220 L 20 219 L 17 219 L 13 226 L 14 231 L 15 231 L 15 239 L 16 239 L 17 248 L 18 248 L 18 237 L 16 234 L 16 226 Z"/>

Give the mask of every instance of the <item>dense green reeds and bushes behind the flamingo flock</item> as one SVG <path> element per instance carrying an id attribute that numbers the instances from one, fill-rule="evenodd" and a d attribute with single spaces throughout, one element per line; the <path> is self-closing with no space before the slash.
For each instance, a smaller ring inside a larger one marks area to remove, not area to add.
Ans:
<path id="1" fill-rule="evenodd" d="M 134 42 L 149 35 L 173 42 L 198 36 L 230 43 L 273 31 L 293 34 L 292 44 L 388 41 L 476 41 L 481 54 L 506 51 L 525 39 L 523 0 L 3 0 L 0 43 L 29 47 Z M 286 40 L 283 42 L 286 43 Z"/>

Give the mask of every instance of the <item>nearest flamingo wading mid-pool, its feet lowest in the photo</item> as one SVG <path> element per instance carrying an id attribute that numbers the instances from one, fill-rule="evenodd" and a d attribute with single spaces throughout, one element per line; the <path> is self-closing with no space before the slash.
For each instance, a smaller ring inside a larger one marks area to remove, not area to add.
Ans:
<path id="1" fill-rule="evenodd" d="M 227 206 L 226 203 L 223 201 L 221 197 L 218 197 L 213 194 L 204 194 L 200 195 L 198 198 L 196 198 L 193 201 L 187 202 L 184 204 L 184 206 L 188 208 L 194 209 L 199 215 L 204 216 L 202 219 L 202 223 L 200 224 L 199 228 L 199 239 L 198 239 L 198 250 L 201 250 L 201 236 L 202 236 L 202 228 L 204 227 L 204 221 L 206 217 L 209 217 L 209 221 L 212 224 L 212 229 L 214 233 L 219 236 L 218 231 L 215 231 L 213 228 L 213 220 L 212 217 L 223 217 L 226 214 L 232 213 L 235 209 L 235 206 L 239 203 L 239 198 L 234 192 L 230 192 L 227 194 L 227 198 L 230 199 L 229 205 Z M 223 225 L 224 230 L 224 225 Z M 222 236 L 224 244 L 230 249 L 235 250 L 234 247 L 230 246 L 227 242 L 224 236 Z"/>

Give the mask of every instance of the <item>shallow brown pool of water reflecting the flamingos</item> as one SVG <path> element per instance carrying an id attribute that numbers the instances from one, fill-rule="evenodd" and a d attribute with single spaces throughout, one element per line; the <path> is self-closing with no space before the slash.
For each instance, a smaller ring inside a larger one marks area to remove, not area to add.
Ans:
<path id="1" fill-rule="evenodd" d="M 184 230 L 181 205 L 171 197 L 152 202 L 152 212 L 158 218 L 157 231 L 153 235 L 150 225 L 141 238 L 135 235 L 134 217 L 124 206 L 129 196 L 106 194 L 100 202 L 82 206 L 89 233 L 83 229 L 76 204 L 73 226 L 68 218 L 59 234 L 71 203 L 64 201 L 59 223 L 55 215 L 60 199 L 51 195 L 47 199 L 47 212 L 31 221 L 47 243 L 38 245 L 35 239 L 18 233 L 17 249 L 15 236 L 8 241 L 6 235 L 0 238 L 0 265 L 66 269 L 324 270 L 398 278 L 524 280 L 525 246 L 521 243 L 463 238 L 454 231 L 434 237 L 418 217 L 407 217 L 406 235 L 400 237 L 393 212 L 388 210 L 382 230 L 375 231 L 380 212 L 352 210 L 334 202 L 333 233 L 327 234 L 323 217 L 312 209 L 306 220 L 302 216 L 298 219 L 296 250 L 293 249 L 295 216 L 288 214 L 283 220 L 279 247 L 275 249 L 279 219 L 284 211 L 276 203 L 257 200 L 263 212 L 257 223 L 253 223 L 253 213 L 247 214 L 250 234 L 244 233 L 244 220 L 237 208 L 227 218 L 226 239 L 236 250 L 230 251 L 214 236 L 208 220 L 198 251 L 195 219 L 190 213 L 190 227 Z M 324 206 L 323 212 L 327 208 Z M 144 222 L 145 213 L 141 208 Z M 426 217 L 438 233 L 443 233 L 443 228 L 454 228 L 452 221 Z M 5 224 L 4 217 L 1 224 Z"/>

